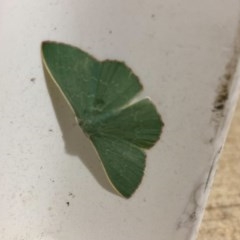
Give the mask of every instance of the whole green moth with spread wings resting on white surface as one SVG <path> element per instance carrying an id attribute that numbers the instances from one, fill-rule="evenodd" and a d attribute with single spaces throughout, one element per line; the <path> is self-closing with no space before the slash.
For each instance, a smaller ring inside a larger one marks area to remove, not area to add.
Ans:
<path id="1" fill-rule="evenodd" d="M 146 154 L 163 122 L 149 98 L 132 103 L 142 90 L 124 63 L 98 61 L 63 43 L 42 43 L 43 64 L 93 143 L 115 190 L 129 198 L 141 183 Z"/>

